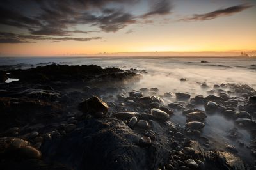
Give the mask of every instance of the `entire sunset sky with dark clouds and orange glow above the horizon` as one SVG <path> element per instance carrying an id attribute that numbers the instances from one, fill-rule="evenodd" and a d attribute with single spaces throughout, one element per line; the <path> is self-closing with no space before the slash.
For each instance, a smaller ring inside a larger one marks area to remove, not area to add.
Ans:
<path id="1" fill-rule="evenodd" d="M 1 56 L 256 50 L 255 0 L 1 0 L 0 14 Z"/>

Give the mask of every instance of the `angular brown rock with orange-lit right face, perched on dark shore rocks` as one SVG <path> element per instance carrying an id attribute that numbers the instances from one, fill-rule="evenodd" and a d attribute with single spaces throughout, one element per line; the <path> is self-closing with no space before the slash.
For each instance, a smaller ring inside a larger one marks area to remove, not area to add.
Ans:
<path id="1" fill-rule="evenodd" d="M 93 112 L 103 112 L 106 114 L 108 112 L 108 105 L 96 96 L 84 100 L 78 105 L 78 108 L 85 114 Z"/>

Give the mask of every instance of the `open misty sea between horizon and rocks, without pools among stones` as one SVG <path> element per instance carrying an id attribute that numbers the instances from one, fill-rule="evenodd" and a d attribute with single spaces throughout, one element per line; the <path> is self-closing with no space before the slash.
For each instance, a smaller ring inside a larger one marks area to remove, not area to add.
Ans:
<path id="1" fill-rule="evenodd" d="M 206 61 L 202 63 L 201 61 Z M 237 83 L 256 87 L 256 58 L 152 58 L 152 57 L 19 57 L 0 58 L 0 70 L 3 65 L 13 68 L 31 68 L 52 63 L 60 65 L 99 65 L 121 69 L 136 68 L 146 70 L 142 79 L 134 88 L 159 88 L 161 93 L 170 91 L 201 94 L 200 84 L 212 87 L 214 84 Z M 185 78 L 185 82 L 180 82 Z"/>

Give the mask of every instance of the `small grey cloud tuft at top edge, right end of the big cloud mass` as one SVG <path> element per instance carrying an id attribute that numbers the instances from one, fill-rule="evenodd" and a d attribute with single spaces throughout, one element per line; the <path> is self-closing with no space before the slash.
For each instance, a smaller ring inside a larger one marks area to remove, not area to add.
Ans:
<path id="1" fill-rule="evenodd" d="M 150 0 L 150 11 L 145 13 L 143 17 L 151 15 L 166 15 L 172 10 L 172 3 L 170 0 Z"/>

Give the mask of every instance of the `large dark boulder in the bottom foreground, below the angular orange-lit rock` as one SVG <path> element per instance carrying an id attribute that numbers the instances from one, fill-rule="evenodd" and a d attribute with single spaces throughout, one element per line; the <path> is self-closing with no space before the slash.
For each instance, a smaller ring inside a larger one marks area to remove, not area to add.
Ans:
<path id="1" fill-rule="evenodd" d="M 45 141 L 41 147 L 45 161 L 74 170 L 157 169 L 170 158 L 168 143 L 150 144 L 148 138 L 141 141 L 123 121 L 92 118 L 84 120 L 83 126 L 65 137 Z M 141 147 L 145 141 L 150 147 Z"/>

